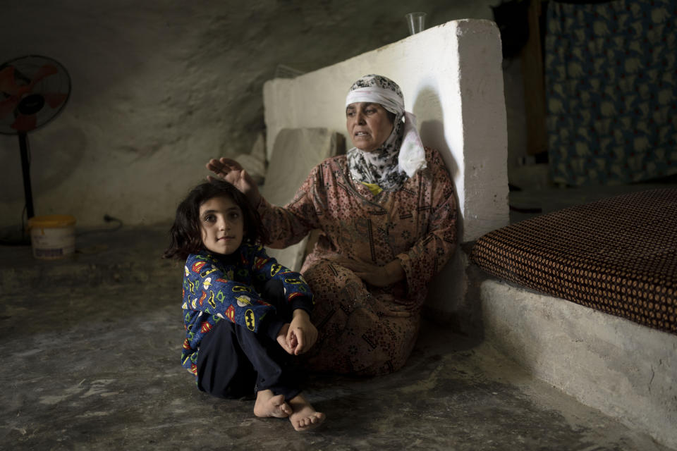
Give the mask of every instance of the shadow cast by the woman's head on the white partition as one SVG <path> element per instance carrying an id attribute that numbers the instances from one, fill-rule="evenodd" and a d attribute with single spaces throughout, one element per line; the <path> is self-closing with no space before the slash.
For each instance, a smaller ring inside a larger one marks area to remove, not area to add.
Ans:
<path id="1" fill-rule="evenodd" d="M 441 100 L 437 87 L 426 85 L 418 90 L 412 112 L 417 117 L 419 134 L 423 145 L 437 149 L 444 159 L 446 168 L 449 170 L 451 182 L 458 180 L 458 163 L 454 159 L 449 144 L 446 142 L 446 133 L 444 130 L 444 111 L 442 111 Z M 458 190 L 454 186 L 453 195 L 456 200 L 456 209 L 458 210 L 456 233 L 460 238 L 463 236 L 463 216 L 458 205 Z"/>

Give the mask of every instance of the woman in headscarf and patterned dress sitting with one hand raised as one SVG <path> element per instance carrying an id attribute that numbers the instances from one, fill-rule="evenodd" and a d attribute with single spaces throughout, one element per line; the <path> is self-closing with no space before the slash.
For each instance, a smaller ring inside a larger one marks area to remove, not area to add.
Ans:
<path id="1" fill-rule="evenodd" d="M 271 235 L 292 245 L 322 230 L 301 273 L 319 337 L 305 365 L 374 376 L 405 364 L 432 276 L 456 247 L 456 201 L 439 153 L 424 148 L 398 85 L 366 75 L 350 87 L 353 149 L 324 160 L 286 206 L 273 206 L 236 161 L 207 168 L 243 191 Z"/>

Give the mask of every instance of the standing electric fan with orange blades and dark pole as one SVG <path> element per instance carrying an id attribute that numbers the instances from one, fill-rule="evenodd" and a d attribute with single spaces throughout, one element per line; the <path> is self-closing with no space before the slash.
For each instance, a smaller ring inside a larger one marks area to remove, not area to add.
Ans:
<path id="1" fill-rule="evenodd" d="M 46 56 L 28 55 L 0 66 L 0 133 L 18 135 L 28 218 L 35 216 L 30 187 L 28 132 L 42 127 L 66 106 L 71 78 Z"/>

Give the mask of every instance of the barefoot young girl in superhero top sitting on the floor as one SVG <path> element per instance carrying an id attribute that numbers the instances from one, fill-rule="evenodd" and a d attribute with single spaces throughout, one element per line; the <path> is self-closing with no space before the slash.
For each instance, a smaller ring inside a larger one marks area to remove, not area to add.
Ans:
<path id="1" fill-rule="evenodd" d="M 267 232 L 228 182 L 197 185 L 176 209 L 165 257 L 185 259 L 181 362 L 216 397 L 256 394 L 254 414 L 288 417 L 297 431 L 324 421 L 300 394 L 289 354 L 317 340 L 303 277 L 268 257 Z"/>

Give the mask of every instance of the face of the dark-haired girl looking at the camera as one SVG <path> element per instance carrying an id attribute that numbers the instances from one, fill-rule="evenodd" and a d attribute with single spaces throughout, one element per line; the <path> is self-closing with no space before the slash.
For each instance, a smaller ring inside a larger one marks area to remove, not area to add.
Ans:
<path id="1" fill-rule="evenodd" d="M 227 196 L 212 197 L 200 205 L 202 244 L 216 254 L 235 252 L 245 233 L 242 210 Z"/>

